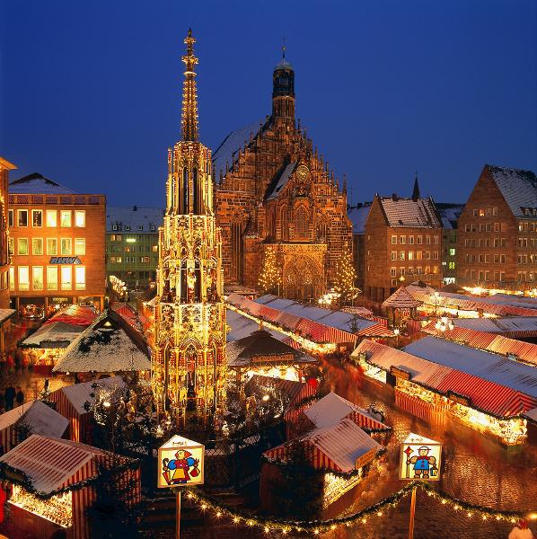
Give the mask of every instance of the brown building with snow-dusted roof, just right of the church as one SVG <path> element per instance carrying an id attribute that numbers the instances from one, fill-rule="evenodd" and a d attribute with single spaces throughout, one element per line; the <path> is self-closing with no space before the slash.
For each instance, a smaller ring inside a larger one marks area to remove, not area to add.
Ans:
<path id="1" fill-rule="evenodd" d="M 365 297 L 382 303 L 408 281 L 442 284 L 442 223 L 432 199 L 375 195 L 365 222 Z"/>

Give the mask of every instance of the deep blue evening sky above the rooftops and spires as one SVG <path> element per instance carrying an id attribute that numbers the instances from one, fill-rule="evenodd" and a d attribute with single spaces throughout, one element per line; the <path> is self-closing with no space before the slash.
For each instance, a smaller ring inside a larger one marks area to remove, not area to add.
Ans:
<path id="1" fill-rule="evenodd" d="M 537 3 L 68 2 L 0 8 L 0 155 L 110 205 L 163 206 L 182 40 L 201 140 L 270 111 L 286 36 L 297 115 L 352 201 L 465 201 L 484 163 L 537 171 Z"/>

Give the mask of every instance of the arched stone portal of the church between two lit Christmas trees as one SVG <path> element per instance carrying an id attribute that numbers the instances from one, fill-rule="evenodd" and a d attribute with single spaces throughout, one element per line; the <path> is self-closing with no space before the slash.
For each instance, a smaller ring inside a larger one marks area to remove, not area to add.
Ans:
<path id="1" fill-rule="evenodd" d="M 323 271 L 309 256 L 300 255 L 284 266 L 284 293 L 298 301 L 317 300 L 321 295 Z"/>

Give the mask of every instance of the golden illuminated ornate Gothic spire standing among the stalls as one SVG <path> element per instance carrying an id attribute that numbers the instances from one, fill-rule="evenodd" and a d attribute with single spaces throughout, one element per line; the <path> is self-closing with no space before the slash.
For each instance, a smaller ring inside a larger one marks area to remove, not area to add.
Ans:
<path id="1" fill-rule="evenodd" d="M 222 241 L 213 212 L 211 151 L 198 142 L 191 30 L 184 42 L 182 140 L 168 150 L 152 359 L 159 410 L 175 414 L 183 428 L 206 426 L 225 399 Z"/>

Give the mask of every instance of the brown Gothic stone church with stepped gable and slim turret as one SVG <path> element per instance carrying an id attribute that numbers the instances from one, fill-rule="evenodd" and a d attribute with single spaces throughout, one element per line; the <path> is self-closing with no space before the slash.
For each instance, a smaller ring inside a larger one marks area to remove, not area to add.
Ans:
<path id="1" fill-rule="evenodd" d="M 226 284 L 258 287 L 273 253 L 274 292 L 318 299 L 352 250 L 347 189 L 295 119 L 295 72 L 284 57 L 273 73 L 272 114 L 233 131 L 216 149 L 216 222 Z"/>

